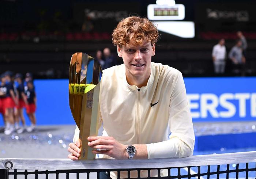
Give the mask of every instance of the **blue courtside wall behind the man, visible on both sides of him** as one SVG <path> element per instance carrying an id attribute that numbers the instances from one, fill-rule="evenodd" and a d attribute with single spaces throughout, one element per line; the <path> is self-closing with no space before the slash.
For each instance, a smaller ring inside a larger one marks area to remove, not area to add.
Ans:
<path id="1" fill-rule="evenodd" d="M 256 120 L 256 77 L 197 77 L 184 81 L 193 122 Z M 68 104 L 68 80 L 34 83 L 37 124 L 75 124 Z M 26 123 L 30 124 L 27 117 Z"/>

